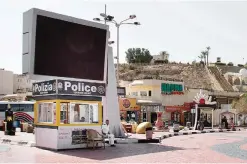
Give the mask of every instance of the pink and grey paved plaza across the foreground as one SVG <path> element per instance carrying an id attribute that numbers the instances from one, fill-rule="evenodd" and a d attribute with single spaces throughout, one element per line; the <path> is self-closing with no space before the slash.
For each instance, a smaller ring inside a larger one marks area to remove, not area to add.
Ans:
<path id="1" fill-rule="evenodd" d="M 53 152 L 0 144 L 0 163 L 247 163 L 247 131 L 182 135 L 160 144 Z"/>

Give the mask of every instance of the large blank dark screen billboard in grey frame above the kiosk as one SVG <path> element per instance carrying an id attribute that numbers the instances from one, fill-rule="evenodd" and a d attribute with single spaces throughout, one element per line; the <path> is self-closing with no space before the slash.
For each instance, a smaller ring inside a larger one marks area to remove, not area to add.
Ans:
<path id="1" fill-rule="evenodd" d="M 105 82 L 108 31 L 104 24 L 31 9 L 23 16 L 23 73 Z"/>

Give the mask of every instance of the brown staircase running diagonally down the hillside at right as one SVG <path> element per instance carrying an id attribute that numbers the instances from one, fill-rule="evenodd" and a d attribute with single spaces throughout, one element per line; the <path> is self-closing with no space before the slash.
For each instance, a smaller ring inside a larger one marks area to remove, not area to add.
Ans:
<path id="1" fill-rule="evenodd" d="M 217 67 L 208 67 L 209 71 L 214 75 L 216 80 L 219 82 L 220 86 L 224 91 L 233 92 L 231 84 L 225 79 L 225 77 L 220 73 Z"/>

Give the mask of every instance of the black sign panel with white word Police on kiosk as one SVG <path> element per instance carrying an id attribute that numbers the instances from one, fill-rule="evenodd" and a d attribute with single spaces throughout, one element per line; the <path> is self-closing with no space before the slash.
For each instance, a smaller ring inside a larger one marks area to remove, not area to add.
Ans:
<path id="1" fill-rule="evenodd" d="M 105 84 L 57 80 L 58 94 L 105 96 Z"/>

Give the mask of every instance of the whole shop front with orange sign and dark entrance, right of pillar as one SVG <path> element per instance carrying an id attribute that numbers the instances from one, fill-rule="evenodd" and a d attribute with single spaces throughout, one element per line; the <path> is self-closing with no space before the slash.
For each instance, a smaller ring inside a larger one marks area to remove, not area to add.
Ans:
<path id="1" fill-rule="evenodd" d="M 136 98 L 119 98 L 120 118 L 126 122 L 140 122 L 140 109 Z"/>

